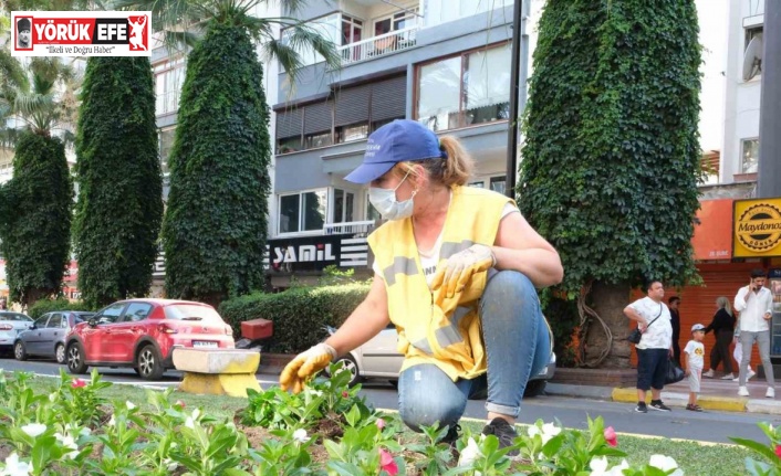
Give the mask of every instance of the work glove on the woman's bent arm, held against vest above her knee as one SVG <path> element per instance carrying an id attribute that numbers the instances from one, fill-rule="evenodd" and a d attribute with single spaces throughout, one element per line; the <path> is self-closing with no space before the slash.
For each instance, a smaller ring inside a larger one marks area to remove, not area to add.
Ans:
<path id="1" fill-rule="evenodd" d="M 473 274 L 488 271 L 497 264 L 490 246 L 475 244 L 450 256 L 437 269 L 431 282 L 431 290 L 444 290 L 444 296 L 451 298 L 464 290 Z"/>

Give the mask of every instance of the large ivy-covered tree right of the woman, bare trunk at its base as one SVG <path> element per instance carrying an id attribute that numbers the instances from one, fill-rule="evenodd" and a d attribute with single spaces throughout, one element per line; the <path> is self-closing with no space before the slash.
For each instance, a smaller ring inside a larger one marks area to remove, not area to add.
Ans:
<path id="1" fill-rule="evenodd" d="M 580 361 L 628 367 L 629 288 L 698 279 L 694 0 L 549 0 L 524 117 L 521 209 L 559 250 Z"/>

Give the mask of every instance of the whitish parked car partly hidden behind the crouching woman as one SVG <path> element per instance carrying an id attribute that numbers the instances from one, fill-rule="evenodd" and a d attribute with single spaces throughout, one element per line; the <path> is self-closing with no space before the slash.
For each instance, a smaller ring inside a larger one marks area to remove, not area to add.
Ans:
<path id="1" fill-rule="evenodd" d="M 325 330 L 333 335 L 336 329 L 327 326 Z M 368 342 L 354 349 L 346 356 L 336 359 L 342 362 L 352 375 L 350 384 L 354 385 L 365 379 L 385 379 L 394 385 L 398 382 L 398 373 L 402 370 L 404 356 L 396 350 L 398 334 L 393 324 L 381 330 Z M 551 351 L 551 361 L 537 375 L 532 375 L 527 384 L 525 396 L 541 395 L 545 391 L 545 384 L 553 378 L 556 370 L 556 355 Z"/>

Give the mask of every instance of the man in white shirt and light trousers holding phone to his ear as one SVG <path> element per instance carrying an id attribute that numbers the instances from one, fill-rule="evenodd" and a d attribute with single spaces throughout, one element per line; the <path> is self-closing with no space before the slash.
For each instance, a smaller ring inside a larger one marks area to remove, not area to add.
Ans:
<path id="1" fill-rule="evenodd" d="M 770 289 L 764 287 L 764 269 L 752 271 L 749 285 L 741 287 L 735 296 L 735 310 L 740 313 L 740 345 L 743 348 L 743 357 L 740 360 L 740 387 L 738 388 L 738 395 L 740 396 L 749 396 L 749 391 L 746 388 L 746 375 L 751 360 L 751 347 L 757 342 L 759 357 L 762 359 L 764 374 L 768 379 L 768 392 L 764 396 L 769 399 L 775 398 L 773 364 L 770 362 L 772 306 L 773 295 Z"/>

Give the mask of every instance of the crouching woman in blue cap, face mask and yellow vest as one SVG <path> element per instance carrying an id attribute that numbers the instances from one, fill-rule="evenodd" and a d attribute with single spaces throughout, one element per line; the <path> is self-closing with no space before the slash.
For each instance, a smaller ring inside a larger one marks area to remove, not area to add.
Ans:
<path id="1" fill-rule="evenodd" d="M 467 399 L 487 390 L 483 433 L 513 444 L 529 377 L 551 351 L 535 288 L 560 283 L 563 269 L 512 199 L 466 187 L 471 169 L 457 139 L 413 120 L 369 136 L 363 163 L 345 179 L 369 183 L 369 201 L 388 220 L 368 237 L 373 285 L 333 336 L 285 367 L 283 390 L 301 391 L 392 321 L 405 356 L 404 422 L 414 431 L 438 422 L 452 442 Z"/>

